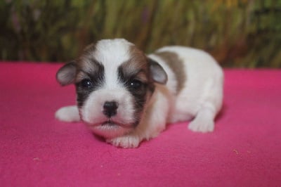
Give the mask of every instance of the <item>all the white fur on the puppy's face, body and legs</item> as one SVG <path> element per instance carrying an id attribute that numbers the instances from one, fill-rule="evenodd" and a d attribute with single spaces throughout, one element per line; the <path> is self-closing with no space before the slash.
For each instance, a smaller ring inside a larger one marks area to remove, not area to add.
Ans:
<path id="1" fill-rule="evenodd" d="M 104 62 L 106 84 L 94 91 L 81 108 L 86 124 L 102 122 L 100 114 L 101 103 L 117 100 L 122 105 L 118 108 L 117 122 L 129 123 L 133 120 L 130 94 L 122 89 L 117 82 L 117 67 L 130 58 L 126 52 L 132 45 L 124 39 L 104 40 L 98 42 L 94 54 L 97 60 Z M 223 101 L 223 71 L 214 58 L 208 53 L 182 46 L 167 46 L 158 51 L 177 53 L 184 61 L 184 71 L 187 77 L 180 93 L 176 94 L 176 76 L 164 61 L 150 54 L 149 57 L 162 65 L 168 75 L 166 85 L 156 84 L 155 93 L 150 98 L 144 111 L 144 117 L 136 129 L 126 127 L 90 127 L 97 134 L 108 131 L 106 141 L 114 146 L 136 148 L 143 139 L 157 136 L 166 127 L 167 122 L 192 120 L 188 129 L 208 132 L 214 130 L 214 118 L 221 109 Z M 72 106 L 61 108 L 55 115 L 59 120 L 78 120 L 78 109 Z"/>

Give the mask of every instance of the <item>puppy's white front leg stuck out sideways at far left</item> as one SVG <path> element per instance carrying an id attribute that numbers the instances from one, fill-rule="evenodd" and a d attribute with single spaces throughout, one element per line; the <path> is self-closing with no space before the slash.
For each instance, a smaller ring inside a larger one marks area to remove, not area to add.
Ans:
<path id="1" fill-rule="evenodd" d="M 63 122 L 80 122 L 79 110 L 76 105 L 58 109 L 55 112 L 55 118 Z"/>

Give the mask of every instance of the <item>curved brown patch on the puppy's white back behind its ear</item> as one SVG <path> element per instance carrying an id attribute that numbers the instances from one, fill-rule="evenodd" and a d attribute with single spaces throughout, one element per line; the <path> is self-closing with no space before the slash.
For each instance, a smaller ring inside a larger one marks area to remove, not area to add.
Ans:
<path id="1" fill-rule="evenodd" d="M 178 58 L 178 55 L 173 52 L 164 51 L 164 52 L 157 52 L 155 53 L 156 56 L 159 56 L 164 60 L 166 65 L 168 65 L 171 70 L 174 72 L 177 86 L 176 86 L 176 93 L 179 93 L 186 81 L 186 75 L 184 72 L 183 61 Z"/>

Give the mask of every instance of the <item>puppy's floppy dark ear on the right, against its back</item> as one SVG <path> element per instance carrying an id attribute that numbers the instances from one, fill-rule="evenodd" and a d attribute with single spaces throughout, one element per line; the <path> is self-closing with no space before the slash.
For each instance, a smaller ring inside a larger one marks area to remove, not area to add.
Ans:
<path id="1" fill-rule="evenodd" d="M 148 62 L 150 64 L 150 76 L 152 79 L 159 84 L 166 84 L 168 76 L 163 67 L 151 58 L 148 58 Z"/>

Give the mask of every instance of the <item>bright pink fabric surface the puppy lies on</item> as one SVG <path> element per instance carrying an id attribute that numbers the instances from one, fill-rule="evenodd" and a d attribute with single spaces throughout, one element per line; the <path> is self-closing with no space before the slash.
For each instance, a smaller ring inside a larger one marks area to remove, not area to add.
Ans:
<path id="1" fill-rule="evenodd" d="M 281 70 L 225 70 L 214 133 L 188 122 L 115 148 L 54 112 L 61 64 L 0 63 L 0 186 L 281 186 Z"/>

